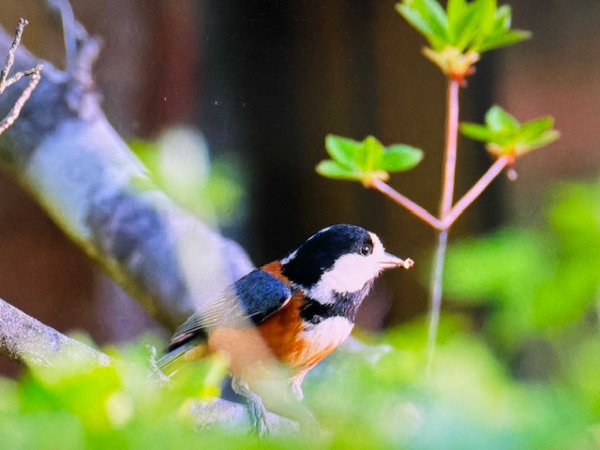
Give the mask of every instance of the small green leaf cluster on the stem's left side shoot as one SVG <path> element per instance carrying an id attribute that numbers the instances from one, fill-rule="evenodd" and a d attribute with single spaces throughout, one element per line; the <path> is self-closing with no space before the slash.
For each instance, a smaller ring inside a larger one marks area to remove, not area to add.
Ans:
<path id="1" fill-rule="evenodd" d="M 403 172 L 415 167 L 423 158 L 420 149 L 410 145 L 383 146 L 373 136 L 362 142 L 329 134 L 325 148 L 331 160 L 321 161 L 316 170 L 328 178 L 362 181 L 386 180 L 389 172 Z"/>

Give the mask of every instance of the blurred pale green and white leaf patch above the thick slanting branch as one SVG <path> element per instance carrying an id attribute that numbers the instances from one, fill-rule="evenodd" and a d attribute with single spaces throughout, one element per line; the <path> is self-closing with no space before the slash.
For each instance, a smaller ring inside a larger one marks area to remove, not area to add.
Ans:
<path id="1" fill-rule="evenodd" d="M 152 182 L 206 223 L 229 226 L 243 219 L 245 189 L 239 158 L 211 162 L 205 139 L 191 128 L 170 128 L 153 142 L 134 139 L 129 145 Z M 134 188 L 147 187 L 134 181 Z"/>

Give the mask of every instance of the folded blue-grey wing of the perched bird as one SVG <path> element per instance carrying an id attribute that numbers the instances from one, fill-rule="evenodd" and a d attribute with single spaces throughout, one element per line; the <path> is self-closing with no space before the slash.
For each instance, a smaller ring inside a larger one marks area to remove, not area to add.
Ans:
<path id="1" fill-rule="evenodd" d="M 286 305 L 291 297 L 289 286 L 256 269 L 206 302 L 182 323 L 169 341 L 169 350 L 204 335 L 215 326 L 239 328 L 258 325 Z"/>

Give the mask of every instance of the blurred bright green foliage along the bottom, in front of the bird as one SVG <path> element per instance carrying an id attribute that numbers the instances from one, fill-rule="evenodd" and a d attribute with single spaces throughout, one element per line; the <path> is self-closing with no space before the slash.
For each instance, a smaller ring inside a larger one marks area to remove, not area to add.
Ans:
<path id="1" fill-rule="evenodd" d="M 18 381 L 0 379 L 0 442 L 10 449 L 594 448 L 600 436 L 600 340 L 574 355 L 565 380 L 516 380 L 468 322 L 442 321 L 436 362 L 425 376 L 425 324 L 393 329 L 374 343 L 391 350 L 334 353 L 305 381 L 305 403 L 319 436 L 259 441 L 236 428 L 201 428 L 189 407 L 218 394 L 226 372 L 214 358 L 185 365 L 161 385 L 149 374 L 144 345 L 106 349 L 109 367 L 62 360 L 32 368 Z M 146 340 L 147 342 L 148 340 Z M 154 344 L 156 344 L 154 342 Z M 377 347 L 375 347 L 377 349 Z"/>

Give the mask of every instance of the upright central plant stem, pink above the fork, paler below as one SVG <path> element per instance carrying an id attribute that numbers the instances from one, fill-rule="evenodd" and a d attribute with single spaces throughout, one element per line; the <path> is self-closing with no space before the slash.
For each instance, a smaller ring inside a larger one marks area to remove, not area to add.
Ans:
<path id="1" fill-rule="evenodd" d="M 454 176 L 456 172 L 456 149 L 458 141 L 458 92 L 460 83 L 453 78 L 448 79 L 446 95 L 446 149 L 444 152 L 444 175 L 442 201 L 440 202 L 440 220 L 445 221 L 452 209 L 454 197 Z M 443 228 L 443 227 L 442 227 Z M 446 247 L 448 245 L 448 229 L 443 229 L 438 237 L 436 257 L 433 261 L 433 280 L 431 280 L 431 312 L 427 331 L 427 373 L 436 350 L 437 329 L 442 309 L 442 278 Z"/>

